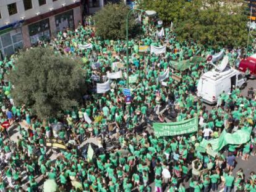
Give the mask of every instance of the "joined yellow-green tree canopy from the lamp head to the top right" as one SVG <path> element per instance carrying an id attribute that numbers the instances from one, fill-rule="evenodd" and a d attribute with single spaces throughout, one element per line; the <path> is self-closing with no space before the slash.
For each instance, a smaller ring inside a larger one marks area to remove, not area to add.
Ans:
<path id="1" fill-rule="evenodd" d="M 247 43 L 248 6 L 243 0 L 143 0 L 140 6 L 156 10 L 166 22 L 173 21 L 179 40 L 193 39 L 212 46 L 245 46 Z"/>

